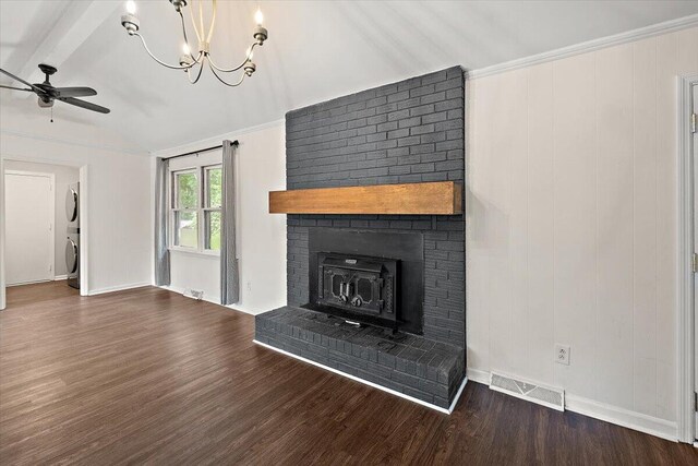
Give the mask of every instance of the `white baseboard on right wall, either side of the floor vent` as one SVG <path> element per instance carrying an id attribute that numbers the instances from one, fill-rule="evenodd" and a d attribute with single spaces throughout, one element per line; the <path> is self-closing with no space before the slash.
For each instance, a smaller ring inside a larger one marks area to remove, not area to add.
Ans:
<path id="1" fill-rule="evenodd" d="M 468 368 L 467 373 L 468 379 L 473 382 L 482 383 L 484 385 L 490 384 L 490 372 L 488 371 Z M 653 416 L 647 416 L 641 413 L 631 411 L 629 409 L 607 405 L 581 396 L 570 395 L 569 393 L 565 393 L 565 409 L 605 422 L 611 422 L 616 426 L 649 433 L 650 435 L 666 439 L 672 442 L 677 442 L 678 439 L 676 422 L 655 418 Z"/>

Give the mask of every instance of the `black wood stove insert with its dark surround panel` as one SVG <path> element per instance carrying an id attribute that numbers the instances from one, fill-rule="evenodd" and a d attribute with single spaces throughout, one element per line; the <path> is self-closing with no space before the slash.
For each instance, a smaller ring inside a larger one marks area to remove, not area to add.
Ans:
<path id="1" fill-rule="evenodd" d="M 421 234 L 314 228 L 309 235 L 305 309 L 350 322 L 421 335 Z"/>

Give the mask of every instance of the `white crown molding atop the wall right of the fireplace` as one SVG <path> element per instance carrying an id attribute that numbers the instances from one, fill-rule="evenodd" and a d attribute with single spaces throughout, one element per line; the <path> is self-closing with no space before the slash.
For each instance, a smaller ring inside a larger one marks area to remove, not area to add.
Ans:
<path id="1" fill-rule="evenodd" d="M 493 74 L 514 71 L 526 67 L 532 67 L 534 64 L 546 63 L 549 61 L 574 57 L 576 55 L 587 53 L 602 48 L 641 40 L 649 37 L 659 36 L 661 34 L 686 29 L 696 25 L 698 25 L 698 14 L 691 14 L 689 16 L 640 27 L 639 29 L 633 29 L 625 33 L 615 34 L 613 36 L 575 44 L 568 47 L 545 51 L 543 53 L 532 55 L 530 57 L 519 58 L 500 64 L 493 64 L 492 67 L 481 68 L 479 70 L 467 71 L 467 77 L 477 80 L 479 77 L 491 76 Z"/>

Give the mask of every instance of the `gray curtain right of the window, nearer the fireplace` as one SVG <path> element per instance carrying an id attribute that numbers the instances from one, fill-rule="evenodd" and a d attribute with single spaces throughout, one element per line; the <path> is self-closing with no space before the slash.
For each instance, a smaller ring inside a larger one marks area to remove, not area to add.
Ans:
<path id="1" fill-rule="evenodd" d="M 236 148 L 222 142 L 222 205 L 220 206 L 220 303 L 234 304 L 240 297 L 236 251 Z"/>

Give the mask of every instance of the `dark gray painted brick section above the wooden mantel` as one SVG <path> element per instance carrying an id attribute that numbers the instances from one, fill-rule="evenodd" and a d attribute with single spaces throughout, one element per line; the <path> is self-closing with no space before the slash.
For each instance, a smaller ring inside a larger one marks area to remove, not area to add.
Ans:
<path id="1" fill-rule="evenodd" d="M 287 189 L 464 180 L 460 67 L 286 115 Z"/>

